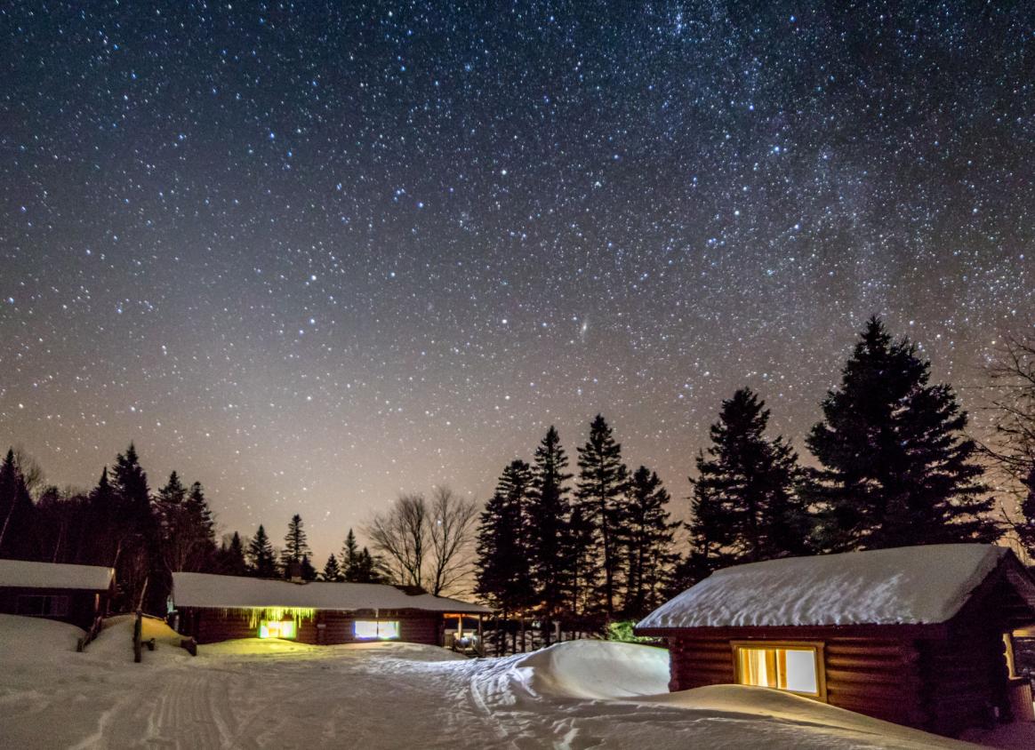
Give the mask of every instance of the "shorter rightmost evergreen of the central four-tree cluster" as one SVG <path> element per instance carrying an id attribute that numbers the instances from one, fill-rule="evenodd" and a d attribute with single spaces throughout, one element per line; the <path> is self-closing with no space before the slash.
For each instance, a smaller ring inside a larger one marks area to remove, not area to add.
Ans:
<path id="1" fill-rule="evenodd" d="M 672 550 L 678 521 L 670 520 L 669 492 L 657 474 L 640 467 L 629 483 L 621 538 L 626 550 L 625 616 L 642 618 L 661 603 L 678 554 Z"/>

